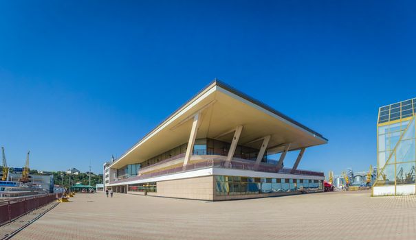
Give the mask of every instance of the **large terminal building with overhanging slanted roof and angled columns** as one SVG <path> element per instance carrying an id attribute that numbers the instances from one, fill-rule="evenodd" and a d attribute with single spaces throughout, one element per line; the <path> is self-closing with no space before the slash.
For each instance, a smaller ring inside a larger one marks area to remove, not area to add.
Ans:
<path id="1" fill-rule="evenodd" d="M 105 188 L 212 201 L 323 191 L 324 173 L 300 170 L 298 164 L 308 147 L 327 141 L 215 80 L 120 158 L 105 163 Z M 298 152 L 296 162 L 286 167 L 292 151 Z"/>

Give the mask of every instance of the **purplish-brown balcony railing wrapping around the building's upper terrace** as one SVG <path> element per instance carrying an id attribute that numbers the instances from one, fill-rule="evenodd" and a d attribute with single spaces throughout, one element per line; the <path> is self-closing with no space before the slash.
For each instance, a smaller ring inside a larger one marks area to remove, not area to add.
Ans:
<path id="1" fill-rule="evenodd" d="M 221 158 L 208 158 L 203 162 L 193 163 L 186 166 L 175 167 L 172 169 L 166 169 L 162 171 L 156 171 L 153 173 L 144 173 L 140 176 L 135 176 L 132 178 L 120 179 L 114 182 L 110 182 L 110 184 L 122 183 L 122 182 L 130 182 L 134 180 L 142 180 L 145 178 L 154 178 L 157 176 L 164 176 L 173 173 L 180 173 L 184 171 L 193 171 L 196 169 L 204 169 L 207 167 L 219 167 L 219 168 L 226 168 L 226 169 L 239 169 L 239 170 L 249 170 L 249 171 L 262 171 L 268 173 L 283 173 L 283 174 L 295 174 L 295 175 L 307 175 L 307 176 L 324 176 L 324 173 L 318 171 L 305 171 L 305 170 L 298 170 L 296 169 L 294 173 L 292 173 L 292 169 L 289 168 L 281 168 L 278 169 L 275 165 L 265 165 L 260 164 L 259 166 L 255 166 L 254 163 L 249 162 L 239 162 L 238 160 L 232 160 L 230 165 L 226 167 L 226 162 Z"/>

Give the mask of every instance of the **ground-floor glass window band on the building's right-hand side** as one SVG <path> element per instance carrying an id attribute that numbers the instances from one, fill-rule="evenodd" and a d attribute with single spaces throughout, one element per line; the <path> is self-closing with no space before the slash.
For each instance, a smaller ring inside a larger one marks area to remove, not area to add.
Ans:
<path id="1" fill-rule="evenodd" d="M 322 191 L 322 180 L 215 176 L 217 195 L 290 193 L 305 190 Z"/>

